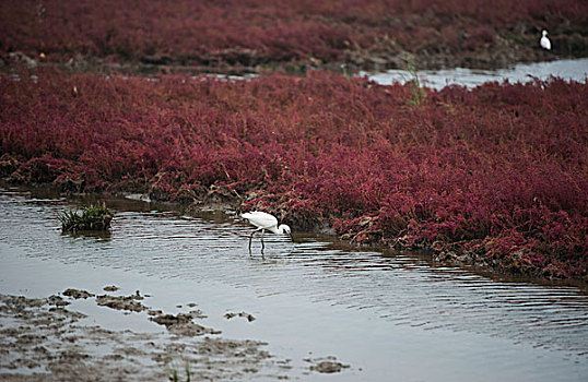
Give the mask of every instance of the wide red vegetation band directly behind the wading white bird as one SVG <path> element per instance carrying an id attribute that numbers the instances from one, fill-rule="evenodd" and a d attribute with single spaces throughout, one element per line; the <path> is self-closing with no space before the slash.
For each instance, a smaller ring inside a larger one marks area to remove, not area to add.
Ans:
<path id="1" fill-rule="evenodd" d="M 297 229 L 546 277 L 588 270 L 588 85 L 380 86 L 40 70 L 0 83 L 0 170 L 78 191 L 240 198 Z"/>

